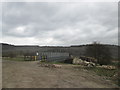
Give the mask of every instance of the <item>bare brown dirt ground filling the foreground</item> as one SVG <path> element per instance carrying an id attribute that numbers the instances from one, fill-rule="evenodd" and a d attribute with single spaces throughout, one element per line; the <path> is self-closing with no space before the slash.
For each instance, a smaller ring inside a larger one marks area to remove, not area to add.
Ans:
<path id="1" fill-rule="evenodd" d="M 39 67 L 38 62 L 3 61 L 3 88 L 113 88 L 111 81 L 72 65 Z"/>

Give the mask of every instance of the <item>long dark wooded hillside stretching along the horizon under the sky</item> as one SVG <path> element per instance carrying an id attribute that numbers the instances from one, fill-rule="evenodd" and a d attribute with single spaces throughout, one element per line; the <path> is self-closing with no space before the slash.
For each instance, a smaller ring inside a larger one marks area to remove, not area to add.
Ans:
<path id="1" fill-rule="evenodd" d="M 17 54 L 22 54 L 26 52 L 68 52 L 71 55 L 81 56 L 85 55 L 85 51 L 87 47 L 92 46 L 92 44 L 87 45 L 72 45 L 72 46 L 37 46 L 37 45 L 11 45 L 6 43 L 1 43 L 2 45 L 2 54 L 8 54 L 10 52 L 15 52 Z M 104 46 L 108 47 L 112 53 L 113 59 L 118 57 L 118 47 L 117 45 L 108 45 L 104 44 Z M 107 51 L 106 51 L 107 52 Z"/>

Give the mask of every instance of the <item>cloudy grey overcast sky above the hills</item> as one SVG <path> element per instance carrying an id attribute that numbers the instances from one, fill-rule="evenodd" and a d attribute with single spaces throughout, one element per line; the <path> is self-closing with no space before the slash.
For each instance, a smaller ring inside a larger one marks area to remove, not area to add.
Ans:
<path id="1" fill-rule="evenodd" d="M 15 45 L 117 44 L 118 3 L 3 3 L 0 41 Z"/>

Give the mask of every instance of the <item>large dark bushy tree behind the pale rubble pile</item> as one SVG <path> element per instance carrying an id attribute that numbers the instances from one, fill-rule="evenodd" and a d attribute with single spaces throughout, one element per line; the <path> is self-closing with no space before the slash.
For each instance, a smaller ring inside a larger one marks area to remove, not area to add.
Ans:
<path id="1" fill-rule="evenodd" d="M 99 64 L 110 64 L 111 63 L 111 52 L 109 48 L 103 44 L 93 42 L 86 48 L 86 56 L 94 57 L 97 59 Z"/>

